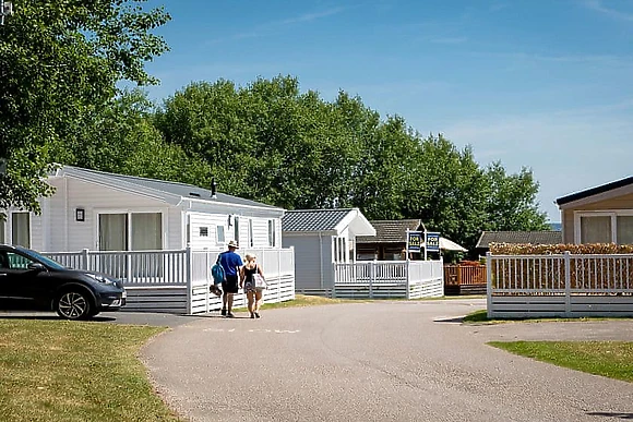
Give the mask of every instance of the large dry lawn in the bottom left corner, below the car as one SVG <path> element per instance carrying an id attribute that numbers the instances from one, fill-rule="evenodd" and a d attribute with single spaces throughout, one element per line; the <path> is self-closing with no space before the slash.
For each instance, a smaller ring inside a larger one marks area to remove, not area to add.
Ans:
<path id="1" fill-rule="evenodd" d="M 164 329 L 0 319 L 0 420 L 180 421 L 136 358 Z"/>

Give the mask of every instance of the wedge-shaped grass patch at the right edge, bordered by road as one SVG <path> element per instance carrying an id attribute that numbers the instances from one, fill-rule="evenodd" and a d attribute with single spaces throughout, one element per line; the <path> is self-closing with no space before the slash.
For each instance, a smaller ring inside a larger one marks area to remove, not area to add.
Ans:
<path id="1" fill-rule="evenodd" d="M 491 341 L 489 345 L 558 366 L 633 382 L 633 341 Z"/>

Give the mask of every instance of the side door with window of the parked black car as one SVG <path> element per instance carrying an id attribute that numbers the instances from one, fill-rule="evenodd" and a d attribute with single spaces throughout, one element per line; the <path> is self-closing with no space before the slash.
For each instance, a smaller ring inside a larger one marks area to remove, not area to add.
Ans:
<path id="1" fill-rule="evenodd" d="M 36 264 L 31 257 L 14 251 L 7 251 L 8 268 L 2 268 L 0 276 L 4 285 L 3 297 L 10 309 L 37 310 L 50 301 L 46 279 L 46 269 L 34 269 Z"/>

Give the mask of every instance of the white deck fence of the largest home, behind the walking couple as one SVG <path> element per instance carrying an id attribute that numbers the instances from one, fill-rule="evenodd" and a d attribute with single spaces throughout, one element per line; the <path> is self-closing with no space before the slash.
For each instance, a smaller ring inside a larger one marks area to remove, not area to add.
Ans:
<path id="1" fill-rule="evenodd" d="M 120 278 L 128 291 L 126 311 L 198 314 L 217 311 L 222 299 L 210 293 L 211 266 L 220 252 L 194 251 L 88 251 L 47 252 L 63 266 L 99 272 Z M 268 289 L 264 302 L 295 299 L 294 249 L 240 250 L 258 256 Z M 246 294 L 235 297 L 235 306 L 246 306 Z"/>

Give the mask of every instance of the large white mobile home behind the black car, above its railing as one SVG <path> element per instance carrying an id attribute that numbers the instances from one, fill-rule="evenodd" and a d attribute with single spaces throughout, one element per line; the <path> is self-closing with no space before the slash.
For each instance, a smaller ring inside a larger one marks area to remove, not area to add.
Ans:
<path id="1" fill-rule="evenodd" d="M 282 246 L 284 209 L 183 183 L 64 166 L 41 215 L 8 210 L 0 242 L 39 251 Z"/>

